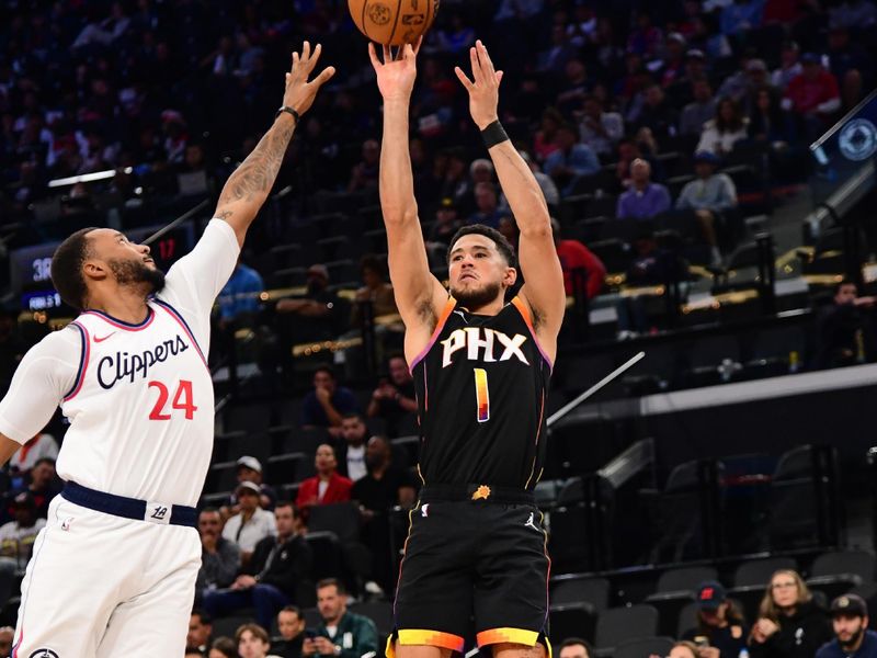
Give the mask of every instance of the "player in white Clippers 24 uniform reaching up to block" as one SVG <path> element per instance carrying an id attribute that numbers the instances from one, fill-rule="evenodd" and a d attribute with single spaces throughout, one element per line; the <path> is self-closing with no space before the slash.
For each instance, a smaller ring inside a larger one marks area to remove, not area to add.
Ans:
<path id="1" fill-rule="evenodd" d="M 31 349 L 0 402 L 0 463 L 50 419 L 70 419 L 66 480 L 22 583 L 13 657 L 182 656 L 201 566 L 197 502 L 213 447 L 209 314 L 271 191 L 297 117 L 332 77 L 293 54 L 283 107 L 231 174 L 215 218 L 167 277 L 149 248 L 77 231 L 52 279 L 81 310 Z"/>

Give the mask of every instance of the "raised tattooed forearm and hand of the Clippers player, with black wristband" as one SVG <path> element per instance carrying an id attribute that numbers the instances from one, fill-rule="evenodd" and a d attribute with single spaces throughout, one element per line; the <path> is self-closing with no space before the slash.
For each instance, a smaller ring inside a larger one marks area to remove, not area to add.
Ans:
<path id="1" fill-rule="evenodd" d="M 327 67 L 308 82 L 320 58 L 320 44 L 312 49 L 305 42 L 301 54 L 293 53 L 293 66 L 286 73 L 286 91 L 283 94 L 283 106 L 292 109 L 300 117 L 314 104 L 320 87 L 335 72 L 334 67 Z M 267 133 L 260 139 L 252 152 L 247 156 L 240 167 L 232 173 L 219 194 L 219 203 L 215 217 L 231 225 L 243 245 L 247 229 L 255 219 L 259 208 L 265 203 L 277 172 L 283 163 L 286 148 L 295 133 L 297 120 L 289 112 L 281 112 Z"/>

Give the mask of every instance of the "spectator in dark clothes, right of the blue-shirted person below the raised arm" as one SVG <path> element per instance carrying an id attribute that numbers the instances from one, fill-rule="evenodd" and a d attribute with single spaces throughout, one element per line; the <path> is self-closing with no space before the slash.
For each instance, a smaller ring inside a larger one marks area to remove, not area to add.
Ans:
<path id="1" fill-rule="evenodd" d="M 285 298 L 277 302 L 278 314 L 295 316 L 292 329 L 292 342 L 320 340 L 338 333 L 339 299 L 334 291 L 329 290 L 329 270 L 316 263 L 307 270 L 307 290 L 300 298 Z"/>

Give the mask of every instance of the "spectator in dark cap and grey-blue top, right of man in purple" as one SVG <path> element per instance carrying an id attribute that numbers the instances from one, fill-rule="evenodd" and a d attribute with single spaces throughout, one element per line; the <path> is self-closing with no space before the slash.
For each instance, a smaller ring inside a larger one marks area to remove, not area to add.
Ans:
<path id="1" fill-rule="evenodd" d="M 704 241 L 710 247 L 714 264 L 721 262 L 716 226 L 728 211 L 737 207 L 733 181 L 727 173 L 716 173 L 718 162 L 716 155 L 709 151 L 694 154 L 697 178 L 685 184 L 676 200 L 676 208 L 694 214 Z"/>

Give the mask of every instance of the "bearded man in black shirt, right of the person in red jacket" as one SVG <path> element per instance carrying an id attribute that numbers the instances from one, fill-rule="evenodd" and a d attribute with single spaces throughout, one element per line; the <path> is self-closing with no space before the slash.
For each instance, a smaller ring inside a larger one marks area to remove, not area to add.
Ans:
<path id="1" fill-rule="evenodd" d="M 410 510 L 415 483 L 408 470 L 392 465 L 392 452 L 384 436 L 372 436 L 366 449 L 368 474 L 353 485 L 351 498 L 363 514 L 362 538 L 372 552 L 372 578 L 383 591 L 392 591 L 398 566 L 390 545 L 390 510 Z"/>

